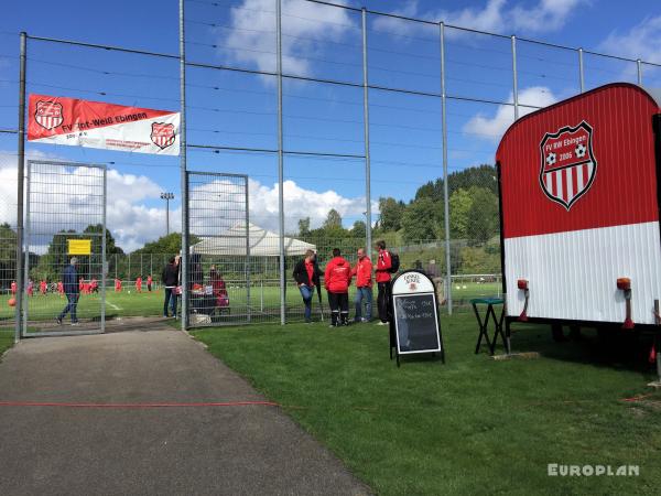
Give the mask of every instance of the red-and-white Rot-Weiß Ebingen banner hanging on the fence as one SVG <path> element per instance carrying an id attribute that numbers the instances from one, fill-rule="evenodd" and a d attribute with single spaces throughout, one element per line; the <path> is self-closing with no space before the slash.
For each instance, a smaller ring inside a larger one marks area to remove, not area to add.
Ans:
<path id="1" fill-rule="evenodd" d="M 30 95 L 28 140 L 178 155 L 181 116 L 77 98 Z"/>

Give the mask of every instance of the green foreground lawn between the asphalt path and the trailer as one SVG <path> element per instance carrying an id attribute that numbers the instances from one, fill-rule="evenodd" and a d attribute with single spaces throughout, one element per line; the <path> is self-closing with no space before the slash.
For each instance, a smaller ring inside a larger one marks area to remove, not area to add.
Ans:
<path id="1" fill-rule="evenodd" d="M 378 494 L 659 494 L 661 392 L 644 349 L 586 332 L 555 344 L 518 326 L 533 360 L 474 354 L 467 313 L 444 317 L 445 365 L 388 357 L 373 324 L 204 330 L 195 336 Z M 640 401 L 625 398 L 649 395 Z M 550 477 L 548 464 L 639 465 L 638 477 Z"/>

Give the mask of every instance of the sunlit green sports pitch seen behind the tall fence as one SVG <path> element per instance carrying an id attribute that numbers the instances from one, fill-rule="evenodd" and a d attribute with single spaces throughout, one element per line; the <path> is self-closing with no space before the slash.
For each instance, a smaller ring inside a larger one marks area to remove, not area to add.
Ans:
<path id="1" fill-rule="evenodd" d="M 498 293 L 498 283 L 477 284 L 472 282 L 457 283 L 453 287 L 453 299 L 455 304 L 467 304 L 470 298 L 494 295 Z M 116 293 L 108 291 L 106 293 L 106 315 L 107 317 L 116 316 L 151 316 L 161 315 L 163 312 L 163 290 L 156 290 L 142 293 L 137 293 L 124 288 L 123 292 Z M 350 301 L 354 298 L 355 288 L 351 288 L 349 293 Z M 238 309 L 246 305 L 246 289 L 245 288 L 228 288 L 230 304 Z M 12 320 L 14 317 L 14 309 L 9 306 L 9 295 L 0 296 L 0 321 Z M 376 300 L 376 289 L 375 289 Z M 315 299 L 316 302 L 316 299 Z M 58 294 L 48 293 L 46 295 L 35 294 L 28 299 L 29 316 L 31 321 L 51 321 L 66 305 L 66 299 Z M 288 287 L 286 304 L 295 311 L 302 310 L 301 295 L 295 287 Z M 327 308 L 326 294 L 323 292 L 323 304 Z M 261 287 L 259 284 L 251 289 L 251 306 L 252 309 L 264 309 L 270 313 L 278 313 L 280 309 L 280 290 L 274 287 Z M 98 294 L 83 294 L 78 302 L 79 319 L 97 319 L 100 315 L 100 296 Z M 375 301 L 376 312 L 376 301 Z"/>

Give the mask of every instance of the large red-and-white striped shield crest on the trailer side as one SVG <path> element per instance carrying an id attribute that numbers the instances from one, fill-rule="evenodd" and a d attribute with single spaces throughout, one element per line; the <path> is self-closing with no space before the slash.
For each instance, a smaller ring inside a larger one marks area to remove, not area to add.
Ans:
<path id="1" fill-rule="evenodd" d="M 593 128 L 585 121 L 545 133 L 540 143 L 540 186 L 549 200 L 567 212 L 586 194 L 597 174 Z"/>

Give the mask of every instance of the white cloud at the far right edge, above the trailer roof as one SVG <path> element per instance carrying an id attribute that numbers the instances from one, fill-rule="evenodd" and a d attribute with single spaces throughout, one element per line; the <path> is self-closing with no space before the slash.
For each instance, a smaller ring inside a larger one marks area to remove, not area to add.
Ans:
<path id="1" fill-rule="evenodd" d="M 611 32 L 598 50 L 661 64 L 661 15 L 647 18 L 626 33 Z"/>

